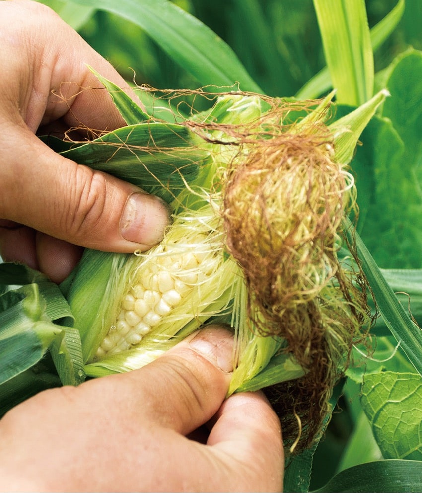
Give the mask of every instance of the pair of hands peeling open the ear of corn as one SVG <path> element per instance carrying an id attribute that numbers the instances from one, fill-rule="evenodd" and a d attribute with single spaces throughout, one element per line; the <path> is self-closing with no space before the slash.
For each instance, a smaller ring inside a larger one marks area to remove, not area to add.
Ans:
<path id="1" fill-rule="evenodd" d="M 0 253 L 63 280 L 83 247 L 146 250 L 166 206 L 36 137 L 124 125 L 86 64 L 125 82 L 50 9 L 0 3 Z M 90 88 L 90 89 L 89 89 Z M 44 391 L 0 420 L 0 490 L 277 491 L 280 423 L 261 393 L 224 400 L 232 337 L 213 327 L 128 374 Z"/>

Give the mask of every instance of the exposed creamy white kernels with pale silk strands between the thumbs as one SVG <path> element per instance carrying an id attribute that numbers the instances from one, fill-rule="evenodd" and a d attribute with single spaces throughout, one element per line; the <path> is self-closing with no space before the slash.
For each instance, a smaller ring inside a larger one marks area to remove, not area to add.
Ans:
<path id="1" fill-rule="evenodd" d="M 159 246 L 147 255 L 135 255 L 117 316 L 94 359 L 134 348 L 148 336 L 168 337 L 192 319 L 204 319 L 208 293 L 213 301 L 214 293 L 239 278 L 235 264 L 220 253 L 222 234 L 205 231 L 204 224 L 208 228 L 211 223 L 210 215 L 179 217 Z M 226 276 L 221 276 L 222 268 Z"/>

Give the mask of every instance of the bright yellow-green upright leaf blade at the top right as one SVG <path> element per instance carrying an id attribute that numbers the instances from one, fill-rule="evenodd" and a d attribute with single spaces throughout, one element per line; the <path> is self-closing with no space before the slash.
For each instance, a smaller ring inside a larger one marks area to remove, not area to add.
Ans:
<path id="1" fill-rule="evenodd" d="M 372 97 L 374 61 L 364 0 L 314 0 L 325 59 L 340 104 Z"/>

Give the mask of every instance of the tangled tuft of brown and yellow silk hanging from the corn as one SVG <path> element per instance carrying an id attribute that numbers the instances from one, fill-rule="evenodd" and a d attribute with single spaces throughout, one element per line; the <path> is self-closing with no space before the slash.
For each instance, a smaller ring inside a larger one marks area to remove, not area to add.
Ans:
<path id="1" fill-rule="evenodd" d="M 315 101 L 271 105 L 245 127 L 207 130 L 223 131 L 239 148 L 221 180 L 221 215 L 248 288 L 249 328 L 284 338 L 284 350 L 307 372 L 268 389 L 290 444 L 299 421 L 301 450 L 321 432 L 333 387 L 372 319 L 352 245 L 349 267 L 338 258 L 344 219 L 357 213 L 352 176 L 335 161 L 333 136 L 321 121 L 285 123 Z"/>

